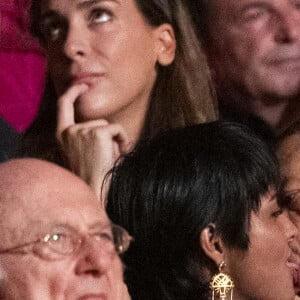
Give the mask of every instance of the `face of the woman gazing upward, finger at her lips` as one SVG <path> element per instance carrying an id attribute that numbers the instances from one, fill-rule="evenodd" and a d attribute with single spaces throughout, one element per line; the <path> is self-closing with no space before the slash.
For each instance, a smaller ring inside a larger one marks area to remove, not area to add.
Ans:
<path id="1" fill-rule="evenodd" d="M 80 121 L 145 113 L 154 85 L 160 27 L 134 0 L 43 0 L 41 25 L 48 70 L 60 96 L 76 84 Z"/>

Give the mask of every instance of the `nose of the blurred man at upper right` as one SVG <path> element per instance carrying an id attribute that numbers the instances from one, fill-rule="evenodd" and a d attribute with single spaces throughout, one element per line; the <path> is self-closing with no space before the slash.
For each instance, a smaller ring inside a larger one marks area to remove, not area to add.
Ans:
<path id="1" fill-rule="evenodd" d="M 278 43 L 293 43 L 300 39 L 300 10 L 284 10 L 274 20 L 275 39 Z"/>

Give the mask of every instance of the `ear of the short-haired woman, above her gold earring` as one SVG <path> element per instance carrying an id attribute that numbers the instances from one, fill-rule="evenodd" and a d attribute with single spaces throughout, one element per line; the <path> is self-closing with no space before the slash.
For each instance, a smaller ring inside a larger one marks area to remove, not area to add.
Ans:
<path id="1" fill-rule="evenodd" d="M 204 253 L 213 260 L 217 266 L 224 261 L 224 244 L 216 233 L 216 226 L 209 224 L 200 233 L 200 244 Z"/>

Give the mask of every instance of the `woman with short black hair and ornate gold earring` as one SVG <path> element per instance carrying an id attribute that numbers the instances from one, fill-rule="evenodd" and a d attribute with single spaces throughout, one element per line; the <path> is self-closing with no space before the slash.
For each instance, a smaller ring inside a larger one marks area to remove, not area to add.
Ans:
<path id="1" fill-rule="evenodd" d="M 140 143 L 112 170 L 107 211 L 134 237 L 132 299 L 292 300 L 297 229 L 275 155 L 216 121 Z"/>

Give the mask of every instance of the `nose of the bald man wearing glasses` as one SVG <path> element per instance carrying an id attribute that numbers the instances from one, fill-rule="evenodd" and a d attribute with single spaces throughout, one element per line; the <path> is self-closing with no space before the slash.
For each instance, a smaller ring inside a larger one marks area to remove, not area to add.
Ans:
<path id="1" fill-rule="evenodd" d="M 86 239 L 78 254 L 76 273 L 99 277 L 110 271 L 116 259 L 120 260 L 115 251 L 101 246 L 92 238 Z"/>

